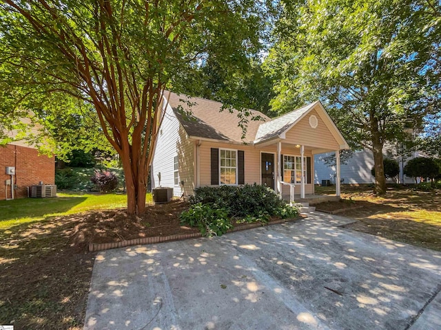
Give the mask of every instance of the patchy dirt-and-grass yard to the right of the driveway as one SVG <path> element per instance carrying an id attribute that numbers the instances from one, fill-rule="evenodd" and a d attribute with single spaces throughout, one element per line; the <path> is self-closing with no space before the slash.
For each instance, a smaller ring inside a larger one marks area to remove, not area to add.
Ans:
<path id="1" fill-rule="evenodd" d="M 346 188 L 343 201 L 320 203 L 317 209 L 362 206 L 339 215 L 355 219 L 345 228 L 441 251 L 441 192 L 389 188 L 376 197 L 369 188 Z"/>

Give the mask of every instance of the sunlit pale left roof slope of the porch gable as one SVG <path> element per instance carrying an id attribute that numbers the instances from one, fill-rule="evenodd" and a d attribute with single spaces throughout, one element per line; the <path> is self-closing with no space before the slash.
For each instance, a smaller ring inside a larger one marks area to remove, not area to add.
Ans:
<path id="1" fill-rule="evenodd" d="M 281 115 L 278 118 L 274 118 L 271 121 L 261 124 L 257 131 L 254 143 L 271 140 L 274 137 L 279 137 L 281 134 L 291 129 L 291 126 L 293 126 L 300 118 L 302 118 L 302 115 L 314 108 L 317 103 L 318 101 L 307 104 L 305 105 L 305 107 L 301 107 L 299 109 L 286 113 L 285 115 Z"/>

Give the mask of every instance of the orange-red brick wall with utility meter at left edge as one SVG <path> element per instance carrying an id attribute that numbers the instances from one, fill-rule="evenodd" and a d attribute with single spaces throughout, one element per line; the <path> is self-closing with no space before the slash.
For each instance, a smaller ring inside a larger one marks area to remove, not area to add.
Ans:
<path id="1" fill-rule="evenodd" d="M 39 155 L 36 149 L 25 146 L 0 146 L 0 199 L 6 199 L 5 180 L 10 179 L 10 175 L 6 175 L 7 166 L 15 166 L 17 190 L 14 191 L 14 197 L 26 197 L 26 187 L 39 184 L 40 181 L 43 184 L 55 183 L 55 157 Z"/>

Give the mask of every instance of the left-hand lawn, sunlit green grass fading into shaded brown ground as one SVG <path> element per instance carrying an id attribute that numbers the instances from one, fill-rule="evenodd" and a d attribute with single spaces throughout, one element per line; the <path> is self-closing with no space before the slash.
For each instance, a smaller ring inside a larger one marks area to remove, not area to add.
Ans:
<path id="1" fill-rule="evenodd" d="M 95 254 L 78 243 L 79 228 L 89 214 L 124 208 L 127 197 L 58 195 L 0 201 L 0 325 L 83 329 Z"/>

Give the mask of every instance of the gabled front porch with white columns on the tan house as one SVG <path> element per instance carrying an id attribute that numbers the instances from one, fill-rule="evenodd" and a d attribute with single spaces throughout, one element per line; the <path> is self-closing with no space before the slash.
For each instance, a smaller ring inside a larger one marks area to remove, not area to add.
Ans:
<path id="1" fill-rule="evenodd" d="M 320 102 L 261 124 L 254 145 L 275 151 L 274 188 L 281 198 L 298 202 L 308 197 L 310 204 L 340 199 L 340 150 L 349 146 Z M 336 195 L 316 196 L 314 155 L 329 152 L 336 154 Z"/>

